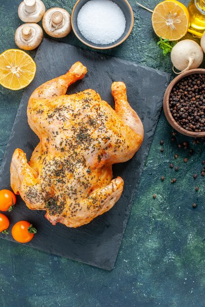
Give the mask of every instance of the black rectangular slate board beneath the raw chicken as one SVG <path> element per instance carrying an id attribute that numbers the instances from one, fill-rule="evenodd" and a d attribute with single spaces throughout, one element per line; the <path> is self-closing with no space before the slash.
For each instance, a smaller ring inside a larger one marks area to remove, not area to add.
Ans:
<path id="1" fill-rule="evenodd" d="M 92 88 L 101 95 L 103 100 L 111 102 L 113 106 L 111 84 L 113 81 L 124 81 L 127 86 L 128 101 L 143 121 L 145 140 L 141 149 L 130 161 L 113 167 L 114 176 L 124 179 L 122 196 L 110 211 L 77 229 L 70 229 L 61 224 L 52 226 L 44 218 L 45 211 L 29 210 L 19 196 L 15 209 L 6 215 L 9 216 L 11 226 L 19 220 L 28 220 L 37 228 L 37 235 L 25 245 L 111 270 L 115 265 L 157 125 L 163 94 L 170 79 L 168 74 L 44 39 L 35 57 L 36 77 L 24 92 L 1 164 L 0 189 L 10 188 L 9 169 L 14 150 L 21 148 L 27 153 L 29 159 L 38 143 L 38 137 L 27 123 L 26 110 L 30 94 L 43 82 L 67 72 L 76 61 L 81 61 L 87 66 L 88 74 L 83 80 L 73 84 L 68 89 L 68 94 Z M 10 234 L 7 236 L 0 234 L 0 237 L 13 241 Z"/>

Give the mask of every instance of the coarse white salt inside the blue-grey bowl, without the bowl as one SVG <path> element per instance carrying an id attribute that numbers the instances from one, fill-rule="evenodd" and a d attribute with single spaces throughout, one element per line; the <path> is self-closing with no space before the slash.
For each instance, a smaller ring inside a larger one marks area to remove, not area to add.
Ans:
<path id="1" fill-rule="evenodd" d="M 88 41 L 107 45 L 122 36 L 126 20 L 119 6 L 111 0 L 90 0 L 80 9 L 78 28 Z"/>

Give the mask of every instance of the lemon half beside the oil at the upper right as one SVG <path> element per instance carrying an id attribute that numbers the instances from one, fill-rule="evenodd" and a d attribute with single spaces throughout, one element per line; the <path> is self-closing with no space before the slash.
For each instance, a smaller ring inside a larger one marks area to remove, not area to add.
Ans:
<path id="1" fill-rule="evenodd" d="M 152 14 L 154 32 L 163 39 L 176 41 L 189 28 L 189 12 L 185 5 L 176 0 L 165 0 L 156 5 Z"/>

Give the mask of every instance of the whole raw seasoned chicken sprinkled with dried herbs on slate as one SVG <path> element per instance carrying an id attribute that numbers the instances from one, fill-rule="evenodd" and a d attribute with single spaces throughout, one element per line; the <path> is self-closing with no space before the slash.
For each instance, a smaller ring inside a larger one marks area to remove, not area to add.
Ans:
<path id="1" fill-rule="evenodd" d="M 30 209 L 46 210 L 53 225 L 79 227 L 110 210 L 123 190 L 123 179 L 112 180 L 112 164 L 131 159 L 143 142 L 123 82 L 112 84 L 115 110 L 91 89 L 65 95 L 86 73 L 77 62 L 32 93 L 28 122 L 40 142 L 29 163 L 21 149 L 11 161 L 14 193 Z"/>

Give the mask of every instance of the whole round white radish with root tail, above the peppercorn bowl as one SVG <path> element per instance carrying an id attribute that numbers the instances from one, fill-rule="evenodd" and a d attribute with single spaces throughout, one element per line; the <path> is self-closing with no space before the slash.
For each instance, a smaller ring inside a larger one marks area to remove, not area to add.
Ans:
<path id="1" fill-rule="evenodd" d="M 190 69 L 198 68 L 203 61 L 204 53 L 202 48 L 195 41 L 185 39 L 178 42 L 172 49 L 171 60 L 174 67 L 180 71 L 181 74 Z"/>

